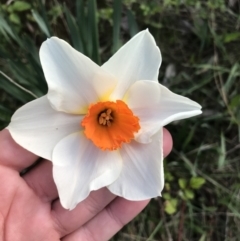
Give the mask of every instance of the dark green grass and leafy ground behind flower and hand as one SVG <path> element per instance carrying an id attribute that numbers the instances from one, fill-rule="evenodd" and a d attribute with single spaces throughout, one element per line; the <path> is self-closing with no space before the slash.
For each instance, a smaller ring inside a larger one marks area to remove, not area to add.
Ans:
<path id="1" fill-rule="evenodd" d="M 238 0 L 1 1 L 0 128 L 46 93 L 39 62 L 50 36 L 105 62 L 149 28 L 161 49 L 159 82 L 203 106 L 167 128 L 163 197 L 112 240 L 240 240 L 240 2 Z"/>

